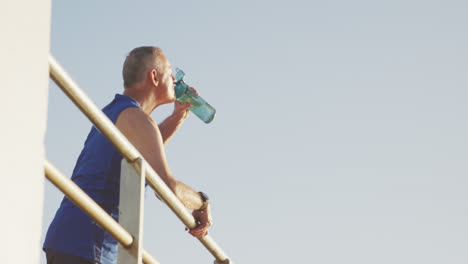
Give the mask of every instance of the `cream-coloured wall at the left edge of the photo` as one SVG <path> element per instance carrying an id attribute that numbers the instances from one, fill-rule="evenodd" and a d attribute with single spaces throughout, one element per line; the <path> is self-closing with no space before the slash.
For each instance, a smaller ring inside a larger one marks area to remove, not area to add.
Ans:
<path id="1" fill-rule="evenodd" d="M 50 0 L 0 1 L 1 263 L 39 263 Z"/>

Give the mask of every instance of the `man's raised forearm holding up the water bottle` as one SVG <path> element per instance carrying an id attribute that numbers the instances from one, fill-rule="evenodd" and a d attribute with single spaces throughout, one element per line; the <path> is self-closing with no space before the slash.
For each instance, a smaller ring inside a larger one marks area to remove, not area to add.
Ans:
<path id="1" fill-rule="evenodd" d="M 184 120 L 188 117 L 190 103 L 181 104 L 178 101 L 174 102 L 174 112 L 159 124 L 164 146 L 167 145 L 174 133 L 179 129 Z"/>

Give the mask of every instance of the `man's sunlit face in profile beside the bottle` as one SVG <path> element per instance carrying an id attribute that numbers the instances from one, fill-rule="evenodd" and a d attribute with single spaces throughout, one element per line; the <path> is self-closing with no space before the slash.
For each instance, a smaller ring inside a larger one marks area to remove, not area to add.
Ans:
<path id="1" fill-rule="evenodd" d="M 158 72 L 159 85 L 156 88 L 158 89 L 158 97 L 162 104 L 171 103 L 176 99 L 172 66 L 165 55 L 161 55 L 159 59 L 161 60 L 160 72 Z"/>

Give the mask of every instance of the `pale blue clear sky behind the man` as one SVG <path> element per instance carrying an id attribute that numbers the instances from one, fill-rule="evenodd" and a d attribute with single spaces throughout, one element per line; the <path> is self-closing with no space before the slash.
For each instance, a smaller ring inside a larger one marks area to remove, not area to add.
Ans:
<path id="1" fill-rule="evenodd" d="M 159 46 L 214 106 L 166 147 L 235 263 L 467 263 L 468 2 L 53 1 L 51 53 L 99 106 Z M 160 122 L 172 111 L 153 113 Z M 51 82 L 47 158 L 70 176 L 91 123 Z M 45 185 L 43 237 L 62 194 Z M 151 192 L 144 247 L 213 257 Z M 43 241 L 43 238 L 42 238 Z M 45 263 L 42 256 L 42 263 Z"/>

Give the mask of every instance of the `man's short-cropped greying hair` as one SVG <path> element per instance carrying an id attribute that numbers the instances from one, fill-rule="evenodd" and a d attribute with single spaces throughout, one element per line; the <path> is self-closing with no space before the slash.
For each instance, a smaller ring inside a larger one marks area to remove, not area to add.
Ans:
<path id="1" fill-rule="evenodd" d="M 153 67 L 153 62 L 164 54 L 158 47 L 138 47 L 130 51 L 125 59 L 122 77 L 125 89 L 132 87 L 135 83 L 145 78 L 145 73 Z M 159 63 L 156 63 L 157 70 L 160 70 Z"/>

